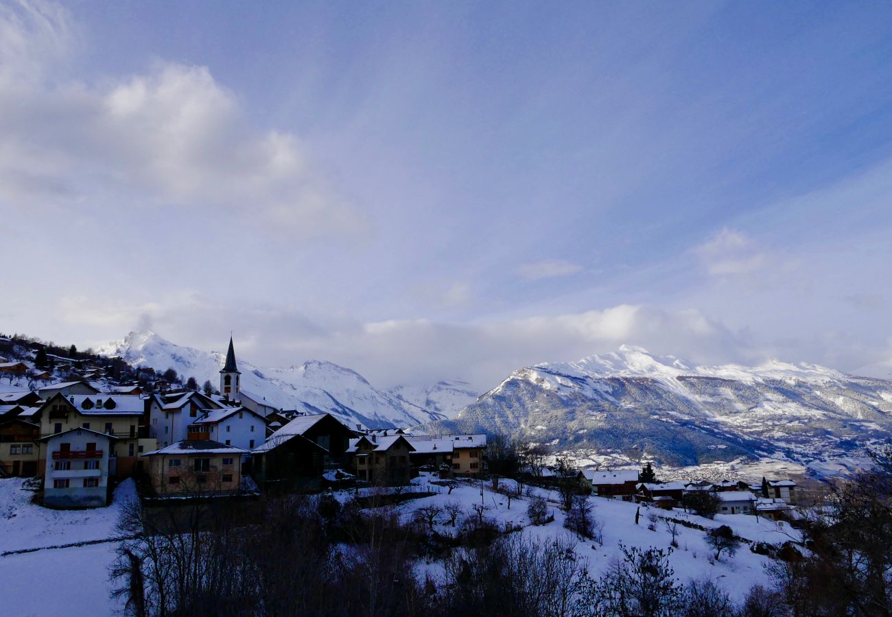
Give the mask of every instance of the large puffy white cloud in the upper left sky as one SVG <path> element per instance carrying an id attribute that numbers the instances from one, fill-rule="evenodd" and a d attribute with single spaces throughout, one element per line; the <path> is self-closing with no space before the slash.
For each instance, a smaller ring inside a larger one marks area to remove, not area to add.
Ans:
<path id="1" fill-rule="evenodd" d="M 0 12 L 0 201 L 164 206 L 301 236 L 362 230 L 300 140 L 252 128 L 207 67 L 157 62 L 101 86 L 37 78 L 70 51 L 69 32 L 67 12 L 51 4 Z"/>

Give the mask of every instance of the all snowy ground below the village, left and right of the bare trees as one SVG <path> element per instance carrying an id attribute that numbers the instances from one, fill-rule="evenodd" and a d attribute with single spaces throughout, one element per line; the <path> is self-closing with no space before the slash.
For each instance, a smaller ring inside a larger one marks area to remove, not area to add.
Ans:
<path id="1" fill-rule="evenodd" d="M 448 489 L 432 484 L 433 477 L 421 476 L 413 481 L 413 490 L 434 492 L 434 496 L 416 498 L 392 506 L 405 521 L 415 516 L 415 511 L 423 506 L 444 506 L 450 502 L 460 504 L 465 514 L 475 515 L 472 506 L 483 503 L 487 506 L 485 516 L 505 526 L 524 527 L 524 533 L 546 539 L 557 536 L 571 537 L 563 527 L 564 514 L 558 508 L 557 494 L 547 490 L 533 489 L 549 501 L 550 514 L 555 520 L 541 526 L 530 525 L 526 516 L 529 498 L 512 499 L 510 509 L 508 498 L 491 490 L 487 481 L 481 489 L 480 482 L 458 481 L 451 495 Z M 504 486 L 511 481 L 502 480 Z M 366 495 L 371 489 L 339 491 L 339 500 L 346 501 L 355 495 Z M 58 511 L 49 510 L 30 503 L 33 493 L 26 481 L 21 479 L 0 480 L 0 554 L 22 549 L 39 549 L 34 552 L 0 556 L 0 597 L 4 598 L 3 614 L 25 615 L 105 615 L 115 613 L 120 606 L 113 602 L 109 593 L 111 586 L 107 568 L 114 559 L 117 542 L 114 531 L 120 506 L 135 498 L 132 481 L 122 483 L 115 492 L 111 506 L 94 510 Z M 619 542 L 634 547 L 670 546 L 671 535 L 665 524 L 657 520 L 656 530 L 648 529 L 651 523 L 649 514 L 673 516 L 681 520 L 717 527 L 731 526 L 734 532 L 745 539 L 764 541 L 780 545 L 797 538 L 789 525 L 767 521 L 752 515 L 717 515 L 714 521 L 685 514 L 681 510 L 666 512 L 656 508 L 641 507 L 640 521 L 635 524 L 635 512 L 639 507 L 613 499 L 591 498 L 595 518 L 602 522 L 604 544 L 591 540 L 577 540 L 576 551 L 587 560 L 591 575 L 597 577 L 618 555 Z M 460 519 L 459 519 L 460 520 Z M 454 533 L 454 529 L 444 524 L 445 516 L 437 523 L 437 531 Z M 460 524 L 460 523 L 459 523 Z M 678 527 L 679 547 L 673 551 L 670 562 L 675 576 L 682 583 L 692 579 L 712 579 L 727 589 L 731 597 L 739 601 L 755 584 L 769 584 L 764 566 L 771 560 L 764 555 L 756 555 L 746 544 L 741 545 L 736 555 L 723 555 L 718 562 L 711 558 L 713 551 L 706 545 L 703 531 Z M 574 536 L 573 536 L 574 537 Z M 575 537 L 574 537 L 575 538 Z M 112 539 L 110 542 L 78 547 L 51 548 L 60 545 Z M 54 576 L 54 572 L 64 576 Z M 431 562 L 419 564 L 419 574 L 428 572 L 435 579 L 442 572 L 440 564 Z M 38 581 L 52 581 L 51 593 L 41 592 Z M 33 590 L 33 591 L 26 591 Z"/>

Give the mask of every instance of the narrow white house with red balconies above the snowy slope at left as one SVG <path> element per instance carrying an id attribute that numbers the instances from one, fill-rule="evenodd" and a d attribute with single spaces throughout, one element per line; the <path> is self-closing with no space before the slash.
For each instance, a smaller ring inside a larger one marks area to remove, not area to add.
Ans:
<path id="1" fill-rule="evenodd" d="M 118 438 L 91 429 L 70 429 L 43 438 L 46 444 L 44 504 L 99 507 L 108 504 L 109 454 Z"/>

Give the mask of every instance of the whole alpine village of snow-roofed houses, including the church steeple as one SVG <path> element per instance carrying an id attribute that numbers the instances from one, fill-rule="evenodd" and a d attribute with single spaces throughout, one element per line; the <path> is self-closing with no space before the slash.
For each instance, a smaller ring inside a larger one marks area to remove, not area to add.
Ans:
<path id="1" fill-rule="evenodd" d="M 0 340 L 7 353 L 16 346 Z M 241 389 L 230 339 L 219 393 L 157 379 L 101 391 L 102 366 L 40 355 L 0 358 L 0 374 L 32 387 L 0 393 L 0 473 L 42 478 L 42 503 L 60 508 L 106 506 L 120 481 L 133 477 L 149 498 L 233 497 L 258 492 L 318 492 L 354 486 L 401 486 L 419 473 L 441 480 L 489 475 L 485 434 L 430 435 L 405 428 L 348 426 L 334 415 L 271 407 Z M 21 355 L 21 347 L 20 353 Z M 45 355 L 45 354 L 44 354 Z M 105 383 L 108 383 L 107 381 Z M 584 469 L 582 491 L 601 498 L 672 510 L 709 495 L 719 514 L 789 518 L 795 481 L 763 479 L 657 482 L 652 466 Z"/>

